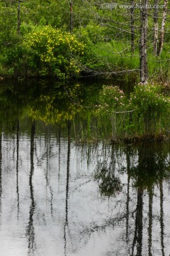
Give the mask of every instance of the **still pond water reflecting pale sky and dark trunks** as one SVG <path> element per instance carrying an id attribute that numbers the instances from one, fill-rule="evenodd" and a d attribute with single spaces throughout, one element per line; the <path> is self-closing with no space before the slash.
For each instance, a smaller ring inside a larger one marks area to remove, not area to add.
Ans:
<path id="1" fill-rule="evenodd" d="M 52 97 L 1 85 L 0 254 L 169 256 L 169 143 L 80 142 Z"/>

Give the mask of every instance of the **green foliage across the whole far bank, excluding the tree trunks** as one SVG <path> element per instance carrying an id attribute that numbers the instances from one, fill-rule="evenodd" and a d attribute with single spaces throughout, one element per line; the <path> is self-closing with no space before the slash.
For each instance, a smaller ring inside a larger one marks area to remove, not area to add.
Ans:
<path id="1" fill-rule="evenodd" d="M 140 71 L 140 9 L 134 10 L 135 51 L 131 53 L 130 9 L 120 7 L 112 10 L 101 9 L 100 4 L 101 1 L 94 0 L 74 1 L 72 12 L 74 39 L 72 42 L 67 42 L 66 37 L 71 38 L 66 32 L 70 29 L 69 1 L 21 1 L 21 33 L 18 35 L 18 1 L 1 0 L 1 75 L 13 75 L 16 78 L 55 75 L 58 78 L 66 78 L 77 75 L 79 70 L 83 70 L 78 64 L 82 63 L 81 67 L 84 67 L 85 71 L 91 71 L 91 74 L 99 74 L 111 79 L 113 78 L 111 74 L 118 73 L 124 75 L 123 78 L 127 78 L 129 70 L 133 70 L 130 78 L 137 78 Z M 119 0 L 118 4 L 125 3 Z M 161 17 L 163 9 L 158 11 Z M 149 76 L 154 77 L 155 80 L 169 81 L 169 33 L 166 31 L 169 18 L 166 19 L 164 49 L 161 57 L 157 57 L 153 54 L 154 9 L 149 10 L 149 14 L 147 36 Z M 160 28 L 162 18 L 159 18 L 158 23 Z M 48 27 L 47 40 L 45 35 L 43 38 L 41 35 L 41 31 L 45 32 L 46 27 Z M 62 33 L 63 41 L 60 41 L 60 46 L 57 45 L 57 39 L 51 46 L 47 43 L 52 36 L 50 32 L 52 29 L 58 31 L 58 34 Z M 35 43 L 34 47 L 29 43 L 28 38 L 33 36 L 33 33 L 36 33 L 42 45 L 44 44 L 43 47 L 38 45 L 35 38 L 32 40 Z M 27 44 L 25 41 L 28 41 Z M 84 48 L 78 50 L 78 41 L 84 45 Z M 48 52 L 50 48 L 53 56 Z"/>

